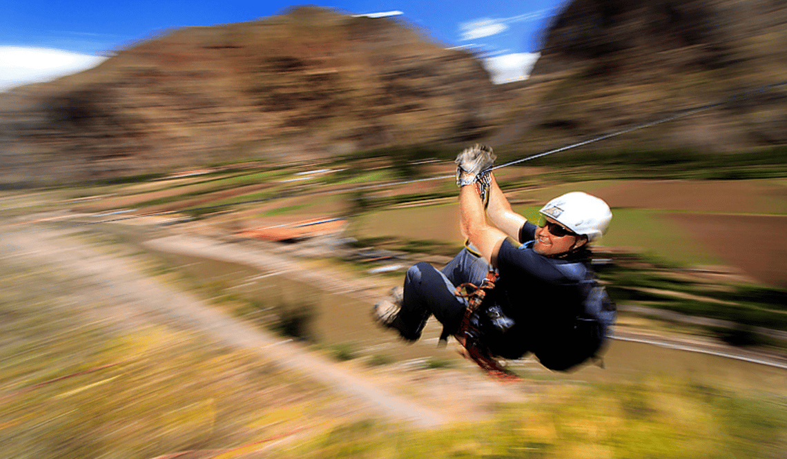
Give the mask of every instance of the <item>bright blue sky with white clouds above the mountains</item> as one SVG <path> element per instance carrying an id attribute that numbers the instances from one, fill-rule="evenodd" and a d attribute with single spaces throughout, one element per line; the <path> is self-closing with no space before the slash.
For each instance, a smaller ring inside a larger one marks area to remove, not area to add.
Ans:
<path id="1" fill-rule="evenodd" d="M 539 37 L 567 0 L 325 0 L 345 13 L 390 13 L 427 30 L 445 46 L 477 50 L 498 81 L 526 75 Z M 170 28 L 244 22 L 283 13 L 298 2 L 268 0 L 27 0 L 0 14 L 0 91 L 97 65 Z M 99 56 L 99 57 L 97 57 Z"/>

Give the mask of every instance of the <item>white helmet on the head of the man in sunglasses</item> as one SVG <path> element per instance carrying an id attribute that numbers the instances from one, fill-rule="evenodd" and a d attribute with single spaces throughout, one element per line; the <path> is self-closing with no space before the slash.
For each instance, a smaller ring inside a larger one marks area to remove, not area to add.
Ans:
<path id="1" fill-rule="evenodd" d="M 578 235 L 586 235 L 588 241 L 604 234 L 612 220 L 612 212 L 606 202 L 582 191 L 558 196 L 538 212 Z"/>

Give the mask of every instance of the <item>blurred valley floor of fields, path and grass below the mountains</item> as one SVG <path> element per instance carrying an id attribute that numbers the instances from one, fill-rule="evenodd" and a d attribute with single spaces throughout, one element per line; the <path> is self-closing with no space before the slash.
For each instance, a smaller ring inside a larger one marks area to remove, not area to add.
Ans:
<path id="1" fill-rule="evenodd" d="M 783 450 L 784 242 L 727 242 L 783 232 L 785 180 L 560 183 L 539 168 L 501 171 L 530 218 L 573 189 L 610 202 L 615 222 L 597 256 L 622 306 L 605 369 L 562 375 L 528 359 L 512 362 L 525 381 L 501 386 L 435 349 L 437 324 L 404 346 L 366 315 L 408 264 L 439 265 L 461 246 L 452 180 L 386 185 L 397 174 L 385 168 L 349 178 L 340 169 L 246 165 L 4 192 L 9 451 L 412 457 L 428 444 L 433 457 L 586 457 L 637 456 L 652 450 L 643 441 L 671 445 L 670 457 Z M 336 217 L 341 231 L 312 238 L 238 235 Z M 582 408 L 587 400 L 609 409 Z M 479 431 L 492 443 L 478 443 Z"/>

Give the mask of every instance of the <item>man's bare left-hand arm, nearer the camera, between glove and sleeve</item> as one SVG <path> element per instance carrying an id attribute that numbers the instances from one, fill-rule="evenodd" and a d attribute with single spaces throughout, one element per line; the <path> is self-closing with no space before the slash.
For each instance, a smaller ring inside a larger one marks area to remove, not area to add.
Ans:
<path id="1" fill-rule="evenodd" d="M 482 257 L 490 265 L 497 266 L 497 251 L 500 250 L 506 235 L 503 231 L 486 223 L 484 205 L 481 202 L 481 197 L 478 196 L 475 184 L 460 188 L 459 212 L 462 234 L 481 252 Z"/>

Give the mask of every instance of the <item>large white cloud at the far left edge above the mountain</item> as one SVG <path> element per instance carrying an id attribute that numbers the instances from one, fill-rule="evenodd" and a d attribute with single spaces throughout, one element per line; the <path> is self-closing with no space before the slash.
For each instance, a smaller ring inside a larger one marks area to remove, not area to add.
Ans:
<path id="1" fill-rule="evenodd" d="M 50 48 L 0 46 L 0 91 L 82 72 L 106 59 Z"/>

